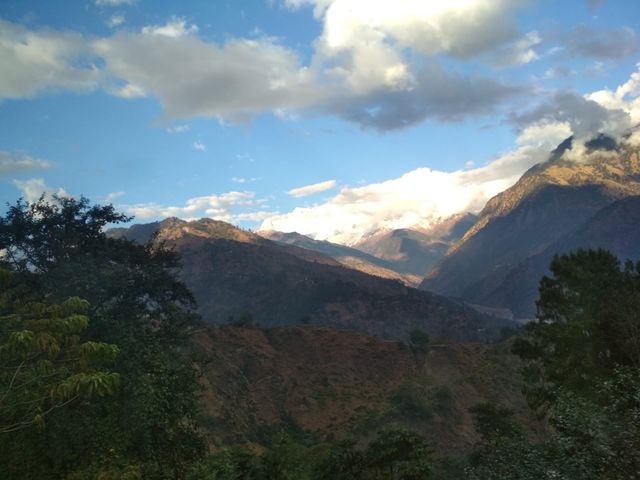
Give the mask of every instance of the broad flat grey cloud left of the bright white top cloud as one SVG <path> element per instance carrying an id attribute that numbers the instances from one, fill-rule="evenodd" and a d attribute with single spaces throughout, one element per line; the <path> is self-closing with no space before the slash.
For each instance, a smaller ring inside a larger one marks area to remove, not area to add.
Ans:
<path id="1" fill-rule="evenodd" d="M 170 118 L 241 121 L 279 108 L 313 103 L 318 89 L 297 56 L 272 39 L 224 45 L 194 35 L 120 32 L 95 42 L 112 77 L 157 96 Z"/>

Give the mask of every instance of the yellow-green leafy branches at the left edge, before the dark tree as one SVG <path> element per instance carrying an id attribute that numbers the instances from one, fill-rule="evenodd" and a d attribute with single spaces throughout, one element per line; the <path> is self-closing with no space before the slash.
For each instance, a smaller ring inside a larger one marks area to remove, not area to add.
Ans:
<path id="1" fill-rule="evenodd" d="M 89 304 L 77 297 L 60 304 L 21 301 L 8 270 L 0 271 L 0 435 L 44 428 L 57 409 L 113 395 L 120 375 L 107 368 L 118 347 L 80 340 Z"/>

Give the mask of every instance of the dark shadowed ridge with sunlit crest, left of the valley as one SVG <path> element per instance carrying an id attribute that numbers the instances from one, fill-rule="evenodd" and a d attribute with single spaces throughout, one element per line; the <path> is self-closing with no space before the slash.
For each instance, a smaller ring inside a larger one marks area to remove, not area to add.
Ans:
<path id="1" fill-rule="evenodd" d="M 419 328 L 441 340 L 495 338 L 508 323 L 214 220 L 171 218 L 110 235 L 146 241 L 154 232 L 180 254 L 181 276 L 210 323 L 250 315 L 264 326 L 310 323 L 394 339 Z"/>

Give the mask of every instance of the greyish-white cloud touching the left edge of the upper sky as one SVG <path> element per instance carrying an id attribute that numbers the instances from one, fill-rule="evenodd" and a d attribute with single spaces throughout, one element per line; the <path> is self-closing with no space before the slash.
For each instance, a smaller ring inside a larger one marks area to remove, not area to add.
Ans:
<path id="1" fill-rule="evenodd" d="M 57 90 L 92 90 L 100 71 L 80 34 L 31 31 L 0 19 L 0 98 L 30 98 Z"/>

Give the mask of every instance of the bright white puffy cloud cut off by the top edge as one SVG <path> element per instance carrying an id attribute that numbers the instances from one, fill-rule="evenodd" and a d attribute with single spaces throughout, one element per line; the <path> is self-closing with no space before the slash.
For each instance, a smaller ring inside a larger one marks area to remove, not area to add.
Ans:
<path id="1" fill-rule="evenodd" d="M 521 0 L 320 0 L 289 1 L 290 6 L 314 3 L 322 17 L 322 51 L 351 51 L 358 56 L 392 48 L 410 48 L 426 55 L 445 53 L 470 58 L 519 37 L 513 13 Z M 389 52 L 390 54 L 392 52 Z"/>

